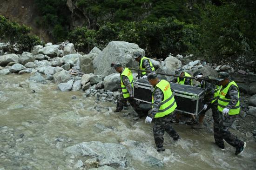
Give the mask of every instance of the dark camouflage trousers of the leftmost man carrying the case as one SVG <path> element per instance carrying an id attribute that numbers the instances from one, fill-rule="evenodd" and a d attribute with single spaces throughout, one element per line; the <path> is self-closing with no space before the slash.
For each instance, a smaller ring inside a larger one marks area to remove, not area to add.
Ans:
<path id="1" fill-rule="evenodd" d="M 133 99 L 133 98 L 124 98 L 122 92 L 119 95 L 119 97 L 117 98 L 116 110 L 117 111 L 123 110 L 123 106 L 127 106 L 127 101 L 130 103 L 130 105 L 133 107 L 133 109 L 138 113 L 139 117 L 143 117 L 143 116 L 147 115 L 146 113 L 144 113 L 141 110 L 140 106 L 136 103 L 135 99 Z"/>

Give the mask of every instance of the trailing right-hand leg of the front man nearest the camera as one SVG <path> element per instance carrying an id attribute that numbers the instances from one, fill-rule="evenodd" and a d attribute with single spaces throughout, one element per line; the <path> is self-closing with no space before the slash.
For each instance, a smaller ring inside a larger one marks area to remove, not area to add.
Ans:
<path id="1" fill-rule="evenodd" d="M 172 115 L 173 114 L 173 115 Z M 175 111 L 171 114 L 166 115 L 163 117 L 164 119 L 164 130 L 168 133 L 170 137 L 172 137 L 174 140 L 179 140 L 180 136 L 179 134 L 173 129 L 171 126 L 171 119 L 175 115 Z"/>

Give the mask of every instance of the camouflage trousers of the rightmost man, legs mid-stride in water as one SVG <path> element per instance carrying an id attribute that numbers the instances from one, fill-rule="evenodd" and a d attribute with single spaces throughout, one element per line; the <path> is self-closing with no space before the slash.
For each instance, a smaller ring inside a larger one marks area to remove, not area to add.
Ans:
<path id="1" fill-rule="evenodd" d="M 239 140 L 235 135 L 231 134 L 229 128 L 236 120 L 238 115 L 229 115 L 225 118 L 222 115 L 222 112 L 217 111 L 213 113 L 213 130 L 214 130 L 214 139 L 215 143 L 222 149 L 224 149 L 223 139 L 230 144 L 231 146 L 237 148 L 243 146 L 243 141 Z"/>

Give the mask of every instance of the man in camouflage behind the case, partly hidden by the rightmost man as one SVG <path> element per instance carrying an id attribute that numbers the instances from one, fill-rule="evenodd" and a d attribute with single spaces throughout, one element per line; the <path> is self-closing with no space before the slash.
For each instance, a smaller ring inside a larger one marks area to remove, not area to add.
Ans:
<path id="1" fill-rule="evenodd" d="M 217 105 L 218 105 L 217 99 L 219 98 L 219 94 L 220 94 L 220 86 L 215 85 L 213 83 L 209 83 L 209 81 L 207 80 L 206 81 L 203 80 L 202 78 L 204 78 L 205 76 L 200 71 L 194 72 L 193 77 L 196 79 L 196 81 L 200 83 L 199 87 L 206 88 L 206 95 L 205 95 L 206 100 L 203 106 L 203 111 L 201 111 L 201 113 L 199 114 L 198 124 L 192 125 L 191 128 L 204 129 L 205 127 L 203 126 L 202 122 L 205 117 L 206 111 L 211 109 L 212 112 L 214 112 L 213 114 L 216 114 L 217 112 Z M 205 77 L 205 78 L 207 79 L 208 77 Z"/>

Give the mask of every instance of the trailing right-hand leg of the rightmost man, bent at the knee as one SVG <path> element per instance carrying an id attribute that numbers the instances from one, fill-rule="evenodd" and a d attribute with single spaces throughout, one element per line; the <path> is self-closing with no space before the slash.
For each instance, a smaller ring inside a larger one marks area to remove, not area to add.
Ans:
<path id="1" fill-rule="evenodd" d="M 229 115 L 221 121 L 221 133 L 225 141 L 231 146 L 238 148 L 243 146 L 243 141 L 239 140 L 235 135 L 231 134 L 229 128 L 236 120 L 237 115 Z"/>

